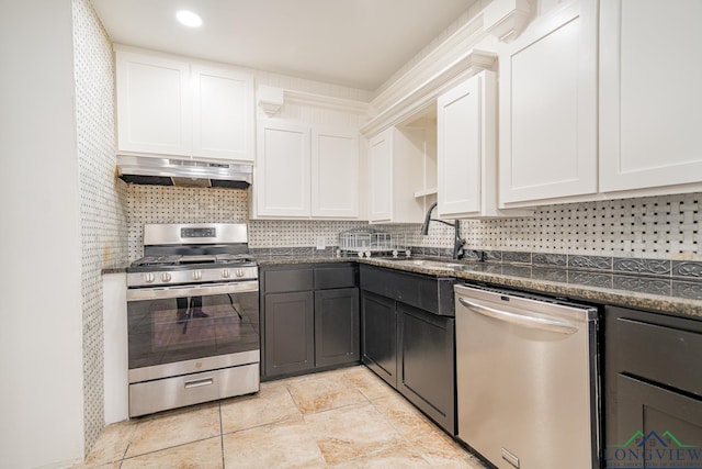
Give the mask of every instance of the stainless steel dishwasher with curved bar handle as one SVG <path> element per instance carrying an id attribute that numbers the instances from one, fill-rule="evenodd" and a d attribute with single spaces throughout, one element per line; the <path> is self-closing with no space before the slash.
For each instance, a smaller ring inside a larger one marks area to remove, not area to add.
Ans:
<path id="1" fill-rule="evenodd" d="M 599 468 L 597 309 L 454 290 L 458 438 L 498 468 Z"/>

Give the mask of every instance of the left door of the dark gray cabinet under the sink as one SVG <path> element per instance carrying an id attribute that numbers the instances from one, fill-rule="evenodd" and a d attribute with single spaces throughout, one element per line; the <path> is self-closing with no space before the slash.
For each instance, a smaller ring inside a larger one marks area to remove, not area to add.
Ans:
<path id="1" fill-rule="evenodd" d="M 397 388 L 397 320 L 395 301 L 373 293 L 361 295 L 362 361 Z"/>

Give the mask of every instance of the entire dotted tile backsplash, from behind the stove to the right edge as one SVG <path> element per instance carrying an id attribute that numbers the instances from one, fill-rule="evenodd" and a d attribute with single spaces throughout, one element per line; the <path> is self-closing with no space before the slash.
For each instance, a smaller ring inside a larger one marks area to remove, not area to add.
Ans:
<path id="1" fill-rule="evenodd" d="M 473 249 L 622 258 L 702 260 L 702 193 L 622 199 L 536 208 L 520 219 L 464 220 L 462 236 Z M 129 259 L 141 254 L 144 223 L 249 222 L 249 191 L 129 186 Z M 252 248 L 337 246 L 339 233 L 364 222 L 249 222 Z M 428 236 L 419 224 L 375 225 L 420 249 L 448 249 L 453 228 L 432 223 Z M 510 256 L 511 254 L 508 254 Z"/>

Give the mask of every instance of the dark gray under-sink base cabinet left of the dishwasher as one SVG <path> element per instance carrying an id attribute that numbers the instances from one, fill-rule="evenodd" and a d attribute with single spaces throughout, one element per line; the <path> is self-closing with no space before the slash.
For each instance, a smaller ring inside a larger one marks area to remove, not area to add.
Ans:
<path id="1" fill-rule="evenodd" d="M 455 435 L 453 278 L 361 265 L 362 361 Z"/>

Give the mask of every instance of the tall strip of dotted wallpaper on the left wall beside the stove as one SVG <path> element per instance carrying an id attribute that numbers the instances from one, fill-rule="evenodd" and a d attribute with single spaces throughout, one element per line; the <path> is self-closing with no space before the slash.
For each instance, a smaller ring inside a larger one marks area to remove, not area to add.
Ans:
<path id="1" fill-rule="evenodd" d="M 126 187 L 114 183 L 112 44 L 89 0 L 72 0 L 76 133 L 80 170 L 86 454 L 104 426 L 104 267 L 127 260 Z"/>

